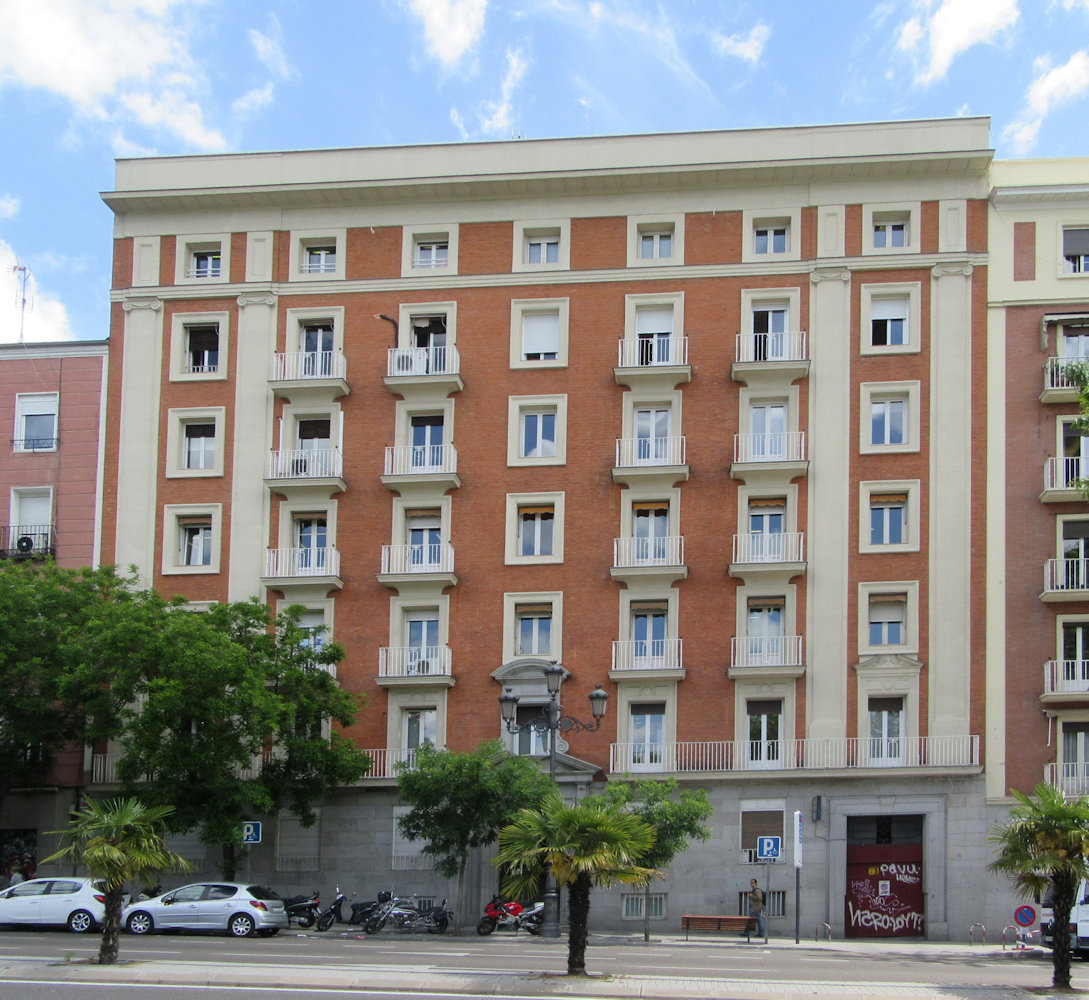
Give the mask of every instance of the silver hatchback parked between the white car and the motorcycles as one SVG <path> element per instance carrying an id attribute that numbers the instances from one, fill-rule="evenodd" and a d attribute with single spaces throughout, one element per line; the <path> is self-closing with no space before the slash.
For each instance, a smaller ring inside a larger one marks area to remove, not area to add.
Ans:
<path id="1" fill-rule="evenodd" d="M 182 886 L 125 907 L 122 924 L 130 934 L 152 930 L 225 930 L 232 937 L 271 937 L 287 926 L 287 913 L 267 886 L 199 882 Z"/>

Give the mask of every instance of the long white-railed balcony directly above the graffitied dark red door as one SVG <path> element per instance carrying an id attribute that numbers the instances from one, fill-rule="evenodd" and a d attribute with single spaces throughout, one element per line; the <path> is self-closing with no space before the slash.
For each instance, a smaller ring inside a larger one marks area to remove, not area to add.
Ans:
<path id="1" fill-rule="evenodd" d="M 610 773 L 978 768 L 979 736 L 613 743 Z M 1089 770 L 1089 766 L 1082 765 Z M 1089 782 L 1087 782 L 1089 786 Z"/>

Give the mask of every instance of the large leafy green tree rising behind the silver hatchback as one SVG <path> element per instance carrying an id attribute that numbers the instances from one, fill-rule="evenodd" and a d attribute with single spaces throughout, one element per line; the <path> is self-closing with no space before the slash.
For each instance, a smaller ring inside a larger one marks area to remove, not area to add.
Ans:
<path id="1" fill-rule="evenodd" d="M 118 777 L 150 804 L 175 805 L 171 831 L 197 829 L 220 847 L 224 879 L 242 859 L 243 820 L 286 808 L 311 824 L 316 800 L 370 767 L 330 731 L 351 725 L 359 704 L 332 674 L 344 650 L 302 629 L 302 611 L 171 606 L 149 638 L 155 656 L 129 667 L 136 697 L 122 712 Z"/>

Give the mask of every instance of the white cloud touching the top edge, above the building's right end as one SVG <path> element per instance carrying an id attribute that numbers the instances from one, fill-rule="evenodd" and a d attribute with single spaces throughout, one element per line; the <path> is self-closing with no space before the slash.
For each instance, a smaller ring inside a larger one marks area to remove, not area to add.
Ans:
<path id="1" fill-rule="evenodd" d="M 916 0 L 919 14 L 901 25 L 896 48 L 925 63 L 915 82 L 941 80 L 953 60 L 975 45 L 991 41 L 1020 16 L 1018 0 Z M 921 50 L 921 52 L 920 52 Z"/>

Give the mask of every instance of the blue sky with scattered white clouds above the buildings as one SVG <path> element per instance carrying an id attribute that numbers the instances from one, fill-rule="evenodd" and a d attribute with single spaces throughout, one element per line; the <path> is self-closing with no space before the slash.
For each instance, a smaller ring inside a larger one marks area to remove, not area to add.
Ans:
<path id="1" fill-rule="evenodd" d="M 108 336 L 117 157 L 979 114 L 1089 156 L 1089 0 L 0 0 L 0 342 Z"/>

